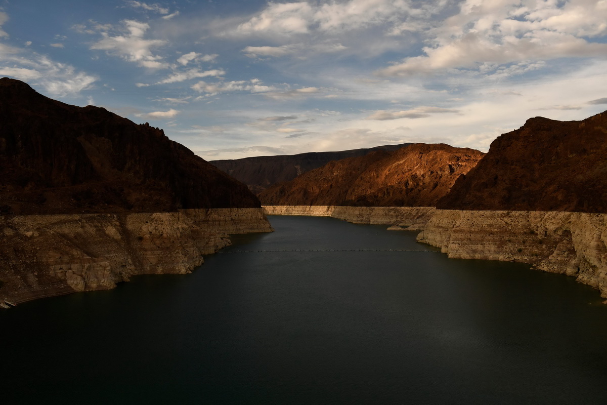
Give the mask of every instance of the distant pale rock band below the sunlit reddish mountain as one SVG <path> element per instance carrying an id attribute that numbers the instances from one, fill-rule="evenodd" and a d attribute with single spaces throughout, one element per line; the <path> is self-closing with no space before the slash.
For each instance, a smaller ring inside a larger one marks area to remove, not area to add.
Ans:
<path id="1" fill-rule="evenodd" d="M 421 229 L 436 209 L 430 206 L 264 205 L 266 215 L 333 217 L 352 223 Z"/>

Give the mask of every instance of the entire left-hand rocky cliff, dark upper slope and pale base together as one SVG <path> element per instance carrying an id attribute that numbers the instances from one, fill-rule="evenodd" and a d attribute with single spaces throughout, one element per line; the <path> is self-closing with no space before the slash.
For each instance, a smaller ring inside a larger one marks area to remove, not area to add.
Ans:
<path id="1" fill-rule="evenodd" d="M 245 185 L 103 108 L 0 79 L 0 306 L 187 273 L 271 231 Z"/>

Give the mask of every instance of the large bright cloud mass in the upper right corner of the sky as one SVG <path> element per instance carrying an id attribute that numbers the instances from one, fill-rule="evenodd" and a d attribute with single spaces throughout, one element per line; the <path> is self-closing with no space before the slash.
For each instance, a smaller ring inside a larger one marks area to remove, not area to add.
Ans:
<path id="1" fill-rule="evenodd" d="M 479 2 L 466 0 L 459 13 L 436 21 L 424 33 L 424 55 L 379 70 L 406 77 L 441 69 L 476 69 L 481 64 L 533 62 L 602 56 L 607 44 L 588 37 L 607 33 L 605 1 Z"/>

